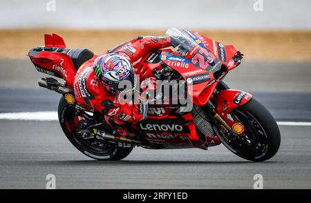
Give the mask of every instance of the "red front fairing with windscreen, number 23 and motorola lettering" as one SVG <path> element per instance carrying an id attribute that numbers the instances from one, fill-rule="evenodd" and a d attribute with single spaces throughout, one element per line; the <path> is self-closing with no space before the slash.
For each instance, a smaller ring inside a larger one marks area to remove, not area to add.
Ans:
<path id="1" fill-rule="evenodd" d="M 234 46 L 224 46 L 223 43 L 190 30 L 169 28 L 167 35 L 174 43 L 180 43 L 180 46 L 175 52 L 162 52 L 162 61 L 180 72 L 187 81 L 191 101 L 197 106 L 204 106 L 218 81 L 238 66 L 239 61 L 234 61 L 228 67 L 228 61 L 232 61 L 236 55 L 241 56 L 241 53 Z"/>

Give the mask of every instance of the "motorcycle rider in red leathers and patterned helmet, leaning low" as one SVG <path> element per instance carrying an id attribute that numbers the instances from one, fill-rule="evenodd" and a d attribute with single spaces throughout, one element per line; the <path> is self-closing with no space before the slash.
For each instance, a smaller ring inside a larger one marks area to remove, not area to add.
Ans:
<path id="1" fill-rule="evenodd" d="M 79 68 L 74 82 L 77 103 L 82 107 L 94 109 L 104 114 L 115 133 L 120 136 L 135 137 L 137 123 L 147 116 L 148 102 L 120 102 L 120 93 L 126 81 L 133 88 L 126 90 L 127 95 L 135 92 L 137 79 L 133 64 L 151 50 L 171 46 L 170 37 L 137 37 L 121 43 L 104 55 L 86 62 Z M 140 84 L 142 91 L 155 91 L 156 78 L 148 78 Z"/>

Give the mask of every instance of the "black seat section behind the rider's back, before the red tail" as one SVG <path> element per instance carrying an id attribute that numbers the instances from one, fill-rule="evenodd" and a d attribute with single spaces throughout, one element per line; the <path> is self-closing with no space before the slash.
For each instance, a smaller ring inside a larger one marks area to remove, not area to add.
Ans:
<path id="1" fill-rule="evenodd" d="M 73 66 L 79 68 L 85 61 L 94 56 L 94 53 L 87 48 L 77 48 L 70 50 L 67 55 L 73 60 Z"/>

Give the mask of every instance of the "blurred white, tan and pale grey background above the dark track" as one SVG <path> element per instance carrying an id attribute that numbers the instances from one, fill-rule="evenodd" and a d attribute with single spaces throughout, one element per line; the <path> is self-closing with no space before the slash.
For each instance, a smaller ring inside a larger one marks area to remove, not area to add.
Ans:
<path id="1" fill-rule="evenodd" d="M 62 35 L 69 48 L 99 54 L 176 27 L 198 30 L 243 52 L 245 63 L 227 77 L 235 88 L 310 92 L 310 2 L 1 0 L 0 86 L 37 87 L 39 73 L 26 54 L 44 44 L 44 33 Z"/>

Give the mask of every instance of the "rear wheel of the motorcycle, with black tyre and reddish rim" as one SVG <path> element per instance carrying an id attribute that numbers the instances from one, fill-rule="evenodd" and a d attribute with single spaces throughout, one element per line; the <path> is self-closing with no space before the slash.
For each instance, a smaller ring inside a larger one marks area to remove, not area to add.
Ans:
<path id="1" fill-rule="evenodd" d="M 60 99 L 58 105 L 59 124 L 75 148 L 95 160 L 122 160 L 131 153 L 133 147 L 116 148 L 113 144 L 97 139 L 98 137 L 83 139 L 82 135 L 75 133 L 75 129 L 77 123 L 84 118 L 75 115 L 75 111 L 75 108 L 70 106 L 64 97 Z"/>

